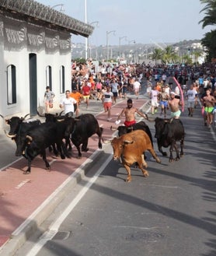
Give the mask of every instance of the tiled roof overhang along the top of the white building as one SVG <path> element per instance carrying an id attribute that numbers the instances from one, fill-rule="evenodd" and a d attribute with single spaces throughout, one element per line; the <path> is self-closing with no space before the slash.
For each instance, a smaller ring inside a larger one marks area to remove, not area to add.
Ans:
<path id="1" fill-rule="evenodd" d="M 33 0 L 1 0 L 0 13 L 50 29 L 89 37 L 94 27 Z"/>

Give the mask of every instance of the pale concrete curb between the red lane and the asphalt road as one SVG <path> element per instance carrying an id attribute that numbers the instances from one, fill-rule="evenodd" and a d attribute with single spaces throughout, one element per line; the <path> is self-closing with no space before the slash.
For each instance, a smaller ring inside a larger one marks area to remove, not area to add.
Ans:
<path id="1" fill-rule="evenodd" d="M 97 149 L 88 160 L 75 173 L 71 174 L 44 202 L 40 205 L 31 216 L 26 219 L 13 233 L 12 237 L 0 248 L 0 256 L 13 256 L 16 251 L 25 244 L 26 240 L 36 231 L 40 231 L 40 225 L 50 216 L 51 212 L 61 203 L 66 195 L 82 180 L 87 173 L 93 160 L 102 153 L 102 149 Z M 41 231 L 42 233 L 42 231 Z"/>

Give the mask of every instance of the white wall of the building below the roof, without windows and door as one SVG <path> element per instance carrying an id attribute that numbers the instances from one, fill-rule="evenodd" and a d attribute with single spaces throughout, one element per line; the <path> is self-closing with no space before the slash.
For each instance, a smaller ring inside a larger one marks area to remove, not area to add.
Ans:
<path id="1" fill-rule="evenodd" d="M 54 108 L 64 93 L 60 93 L 60 67 L 64 66 L 65 90 L 71 90 L 70 33 L 47 30 L 40 26 L 10 21 L 0 15 L 0 114 L 5 118 L 30 113 L 29 54 L 37 54 L 37 107 L 44 107 L 46 68 L 52 68 L 52 90 L 55 93 Z M 21 35 L 21 36 L 20 36 Z M 16 66 L 16 100 L 7 103 L 7 66 Z M 2 122 L 0 122 L 0 126 Z"/>

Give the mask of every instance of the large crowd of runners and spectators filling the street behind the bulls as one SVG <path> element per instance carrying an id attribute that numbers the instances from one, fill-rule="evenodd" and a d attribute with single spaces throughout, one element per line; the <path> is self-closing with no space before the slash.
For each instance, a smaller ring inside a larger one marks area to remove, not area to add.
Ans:
<path id="1" fill-rule="evenodd" d="M 89 100 L 101 100 L 107 120 L 110 121 L 110 110 L 118 98 L 127 98 L 133 93 L 138 99 L 141 86 L 151 99 L 152 115 L 161 109 L 160 114 L 166 117 L 170 109 L 171 117 L 179 118 L 182 105 L 179 86 L 187 100 L 188 116 L 193 117 L 197 100 L 202 103 L 204 125 L 208 127 L 214 122 L 216 125 L 216 64 L 203 65 L 118 65 L 102 63 L 96 67 L 91 60 L 86 64 L 75 61 L 71 66 L 71 93 L 70 97 L 76 100 L 75 114 L 79 114 L 81 100 L 89 107 Z M 179 82 L 173 87 L 172 77 Z M 144 83 L 145 81 L 145 83 Z M 62 107 L 62 104 L 61 104 Z"/>

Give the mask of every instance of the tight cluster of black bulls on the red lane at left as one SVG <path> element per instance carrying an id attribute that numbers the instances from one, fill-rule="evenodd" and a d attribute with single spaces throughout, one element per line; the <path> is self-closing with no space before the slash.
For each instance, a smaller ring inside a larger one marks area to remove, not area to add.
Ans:
<path id="1" fill-rule="evenodd" d="M 56 156 L 60 153 L 61 159 L 70 157 L 70 139 L 78 149 L 78 157 L 82 156 L 81 145 L 82 151 L 89 150 L 88 139 L 95 133 L 99 137 L 98 146 L 102 148 L 103 128 L 99 127 L 96 117 L 92 114 L 83 114 L 76 118 L 45 114 L 44 123 L 33 118 L 25 121 L 26 116 L 5 119 L 6 124 L 10 126 L 6 135 L 16 142 L 16 156 L 24 156 L 28 161 L 28 168 L 23 174 L 30 174 L 31 162 L 38 155 L 42 156 L 46 169 L 50 169 L 46 156 L 47 148 L 53 150 Z M 1 117 L 4 118 L 2 115 Z"/>

